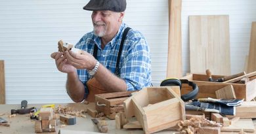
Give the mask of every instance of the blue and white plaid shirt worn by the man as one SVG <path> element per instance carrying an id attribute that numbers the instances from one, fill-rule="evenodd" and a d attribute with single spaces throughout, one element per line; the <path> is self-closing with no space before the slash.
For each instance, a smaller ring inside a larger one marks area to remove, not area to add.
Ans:
<path id="1" fill-rule="evenodd" d="M 126 27 L 126 24 L 121 24 L 114 39 L 108 42 L 103 50 L 100 47 L 100 37 L 96 37 L 93 31 L 85 34 L 77 42 L 75 48 L 79 48 L 93 55 L 93 47 L 96 44 L 98 47 L 97 60 L 109 71 L 115 73 L 121 37 Z M 86 97 L 88 93 L 86 82 L 91 76 L 87 73 L 86 69 L 77 69 L 77 74 L 81 82 L 85 85 Z M 127 33 L 119 62 L 119 75 L 119 78 L 125 80 L 127 91 L 141 90 L 151 84 L 150 50 L 146 39 L 139 31 L 130 29 Z"/>

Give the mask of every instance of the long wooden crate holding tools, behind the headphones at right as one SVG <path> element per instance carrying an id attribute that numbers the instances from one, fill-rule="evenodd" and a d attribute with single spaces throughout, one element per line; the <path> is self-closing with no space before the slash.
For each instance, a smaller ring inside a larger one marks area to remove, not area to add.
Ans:
<path id="1" fill-rule="evenodd" d="M 217 78 L 222 78 L 221 75 L 212 75 L 213 80 Z M 245 101 L 251 101 L 256 97 L 256 80 L 255 76 L 251 76 L 250 81 L 246 84 L 238 83 L 223 83 L 223 82 L 208 82 L 207 75 L 201 74 L 190 74 L 182 77 L 182 79 L 188 79 L 198 85 L 199 92 L 196 98 L 217 98 L 215 92 L 225 86 L 232 84 L 234 87 L 234 92 L 236 94 L 236 99 L 245 99 Z M 186 84 L 182 85 L 181 94 L 188 93 L 191 91 L 191 87 Z"/>

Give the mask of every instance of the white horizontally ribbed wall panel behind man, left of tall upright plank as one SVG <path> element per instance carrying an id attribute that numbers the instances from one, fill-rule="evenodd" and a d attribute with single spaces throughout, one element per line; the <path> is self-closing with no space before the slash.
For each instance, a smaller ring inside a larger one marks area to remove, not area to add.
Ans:
<path id="1" fill-rule="evenodd" d="M 5 60 L 7 103 L 68 103 L 66 74 L 50 54 L 60 39 L 75 44 L 92 30 L 89 0 L 1 0 L 0 59 Z M 152 77 L 165 78 L 168 14 L 165 1 L 127 1 L 125 22 L 139 29 L 152 50 Z M 158 59 L 161 58 L 161 59 Z"/>

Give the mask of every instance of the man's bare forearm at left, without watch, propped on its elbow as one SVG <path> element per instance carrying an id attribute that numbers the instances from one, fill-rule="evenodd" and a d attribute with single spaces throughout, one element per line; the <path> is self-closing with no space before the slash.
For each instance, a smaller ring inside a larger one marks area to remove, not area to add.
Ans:
<path id="1" fill-rule="evenodd" d="M 83 101 L 85 87 L 83 86 L 83 83 L 79 80 L 77 73 L 68 73 L 66 90 L 68 92 L 68 95 L 70 95 L 70 98 L 76 103 Z"/>

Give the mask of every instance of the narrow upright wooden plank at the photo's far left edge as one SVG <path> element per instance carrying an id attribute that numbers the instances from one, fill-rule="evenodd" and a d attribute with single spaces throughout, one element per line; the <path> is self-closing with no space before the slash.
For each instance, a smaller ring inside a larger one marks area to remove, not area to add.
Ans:
<path id="1" fill-rule="evenodd" d="M 0 60 L 0 104 L 5 104 L 5 61 Z"/>

